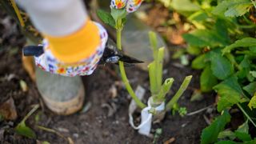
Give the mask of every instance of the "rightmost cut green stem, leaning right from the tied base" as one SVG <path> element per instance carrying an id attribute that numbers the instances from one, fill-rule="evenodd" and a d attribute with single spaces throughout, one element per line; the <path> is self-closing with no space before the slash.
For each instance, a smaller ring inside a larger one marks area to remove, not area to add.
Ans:
<path id="1" fill-rule="evenodd" d="M 171 98 L 170 102 L 167 103 L 166 105 L 166 109 L 170 110 L 174 104 L 178 101 L 178 98 L 180 98 L 182 96 L 182 94 L 184 93 L 184 91 L 186 90 L 187 86 L 189 86 L 190 81 L 191 81 L 192 75 L 187 76 L 184 81 L 182 82 L 182 86 L 179 87 L 177 93 L 174 95 L 173 98 Z"/>

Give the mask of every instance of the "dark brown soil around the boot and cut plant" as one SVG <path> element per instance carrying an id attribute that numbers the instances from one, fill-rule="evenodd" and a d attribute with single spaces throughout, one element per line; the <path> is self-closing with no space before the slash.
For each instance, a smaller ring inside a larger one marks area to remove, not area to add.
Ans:
<path id="1" fill-rule="evenodd" d="M 6 16 L 1 16 L 6 18 Z M 2 19 L 0 19 L 2 21 Z M 1 22 L 0 22 L 1 23 Z M 136 130 L 129 125 L 128 122 L 128 105 L 130 98 L 126 90 L 122 86 L 116 86 L 118 95 L 113 98 L 110 93 L 111 86 L 120 82 L 118 75 L 115 75 L 112 66 L 99 66 L 98 70 L 89 77 L 83 77 L 86 86 L 86 102 L 91 102 L 92 106 L 86 113 L 72 114 L 70 116 L 58 116 L 47 110 L 42 105 L 40 94 L 38 94 L 35 83 L 26 74 L 22 68 L 21 48 L 25 39 L 21 37 L 18 30 L 13 30 L 17 26 L 0 25 L 0 39 L 2 42 L 0 47 L 0 94 L 2 98 L 12 97 L 18 112 L 17 120 L 13 122 L 0 122 L 0 143 L 35 143 L 35 139 L 28 139 L 14 134 L 14 126 L 24 118 L 24 116 L 32 109 L 33 104 L 40 104 L 40 109 L 35 113 L 39 114 L 38 124 L 34 121 L 32 115 L 27 121 L 27 125 L 34 129 L 37 134 L 38 141 L 48 141 L 50 143 L 68 143 L 66 139 L 59 137 L 57 134 L 39 130 L 36 125 L 45 126 L 47 128 L 57 130 L 65 137 L 73 139 L 74 143 L 152 143 L 153 139 L 139 135 Z M 10 35 L 3 38 L 4 31 L 13 30 Z M 18 51 L 14 51 L 18 49 Z M 189 90 L 179 100 L 180 106 L 186 106 L 188 112 L 202 109 L 214 103 L 214 94 L 205 94 L 200 102 L 190 102 L 190 96 L 194 89 L 198 89 L 198 71 L 191 70 L 189 67 L 180 68 L 171 60 L 165 66 L 165 78 L 173 77 L 175 79 L 174 86 L 168 94 L 168 98 L 174 94 L 181 85 L 183 78 L 192 74 L 193 81 Z M 111 72 L 110 72 L 111 71 Z M 14 74 L 14 78 L 6 80 L 10 74 Z M 141 85 L 146 88 L 149 94 L 149 80 L 147 73 L 138 70 L 138 68 L 127 69 L 127 75 L 133 86 Z M 29 87 L 27 92 L 22 92 L 19 81 L 24 80 Z M 149 95 L 147 95 L 149 96 Z M 116 107 L 116 112 L 108 117 L 108 110 L 102 108 L 102 104 L 109 104 Z M 162 128 L 163 133 L 158 139 L 158 143 L 163 143 L 170 138 L 175 138 L 173 143 L 178 144 L 198 144 L 203 128 L 207 126 L 203 114 L 209 115 L 206 111 L 195 114 L 193 116 L 180 117 L 178 114 L 166 114 L 166 118 L 160 123 L 153 126 L 153 132 L 156 128 Z M 138 120 L 138 118 L 137 118 Z M 2 133 L 1 131 L 4 131 Z"/>

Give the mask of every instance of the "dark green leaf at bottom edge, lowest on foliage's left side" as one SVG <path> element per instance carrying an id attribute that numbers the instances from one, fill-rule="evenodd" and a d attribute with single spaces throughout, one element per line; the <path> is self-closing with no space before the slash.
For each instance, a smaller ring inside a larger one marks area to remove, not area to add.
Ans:
<path id="1" fill-rule="evenodd" d="M 223 111 L 222 115 L 215 118 L 214 122 L 202 130 L 201 144 L 209 144 L 216 142 L 218 134 L 224 130 L 226 123 L 230 122 L 230 114 L 227 110 Z"/>

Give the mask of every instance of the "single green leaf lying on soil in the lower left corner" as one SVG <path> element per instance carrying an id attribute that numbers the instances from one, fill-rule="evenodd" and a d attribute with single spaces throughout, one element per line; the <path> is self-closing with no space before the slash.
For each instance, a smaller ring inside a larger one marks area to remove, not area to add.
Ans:
<path id="1" fill-rule="evenodd" d="M 35 138 L 36 134 L 33 130 L 31 130 L 28 126 L 26 126 L 25 122 L 20 122 L 18 126 L 15 127 L 15 132 L 27 138 Z"/>

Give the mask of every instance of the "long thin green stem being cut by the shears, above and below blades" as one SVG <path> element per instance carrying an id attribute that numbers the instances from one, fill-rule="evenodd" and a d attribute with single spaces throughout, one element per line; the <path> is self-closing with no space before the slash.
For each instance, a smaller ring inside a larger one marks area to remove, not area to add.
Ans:
<path id="1" fill-rule="evenodd" d="M 122 19 L 118 19 L 117 22 L 117 46 L 118 46 L 118 50 L 122 50 Z M 138 99 L 138 97 L 136 96 L 136 94 L 134 93 L 134 90 L 132 89 L 132 87 L 130 86 L 130 82 L 126 76 L 126 70 L 125 67 L 123 65 L 123 62 L 119 61 L 119 70 L 120 70 L 120 74 L 122 77 L 122 82 L 124 82 L 125 86 L 126 86 L 126 90 L 128 91 L 128 93 L 130 94 L 131 98 L 134 99 L 134 102 L 136 102 L 136 104 L 140 107 L 140 108 L 144 108 L 146 107 L 146 105 Z"/>

